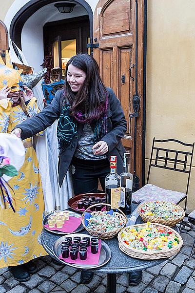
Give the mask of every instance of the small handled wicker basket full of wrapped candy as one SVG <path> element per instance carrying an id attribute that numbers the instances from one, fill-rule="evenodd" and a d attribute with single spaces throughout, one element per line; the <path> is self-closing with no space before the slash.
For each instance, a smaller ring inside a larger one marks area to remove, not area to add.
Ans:
<path id="1" fill-rule="evenodd" d="M 96 205 L 93 205 L 88 209 L 91 209 Z M 104 203 L 103 205 L 111 207 L 109 204 Z M 88 209 L 86 209 L 81 216 L 82 224 L 89 234 L 96 235 L 100 239 L 111 239 L 115 237 L 115 235 L 117 235 L 127 223 L 126 215 L 122 210 L 116 207 L 112 206 L 109 211 L 98 210 L 91 213 L 87 212 Z M 113 209 L 117 209 L 117 211 L 114 211 Z"/>

